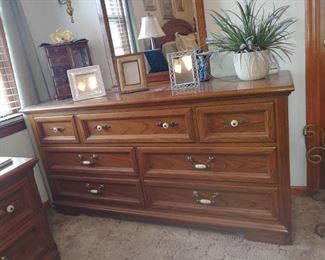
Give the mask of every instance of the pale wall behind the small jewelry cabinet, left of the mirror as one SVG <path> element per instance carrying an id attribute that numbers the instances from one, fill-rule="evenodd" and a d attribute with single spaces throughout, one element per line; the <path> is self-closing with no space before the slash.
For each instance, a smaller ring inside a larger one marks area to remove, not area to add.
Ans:
<path id="1" fill-rule="evenodd" d="M 95 0 L 73 0 L 75 23 L 70 22 L 66 6 L 60 7 L 57 0 L 20 0 L 29 25 L 34 44 L 49 86 L 53 87 L 44 51 L 38 46 L 50 42 L 49 34 L 63 27 L 72 31 L 76 39 L 86 38 L 93 64 L 100 65 L 103 81 L 107 89 L 113 86 L 111 71 L 107 62 Z M 52 91 L 52 97 L 54 92 Z"/>

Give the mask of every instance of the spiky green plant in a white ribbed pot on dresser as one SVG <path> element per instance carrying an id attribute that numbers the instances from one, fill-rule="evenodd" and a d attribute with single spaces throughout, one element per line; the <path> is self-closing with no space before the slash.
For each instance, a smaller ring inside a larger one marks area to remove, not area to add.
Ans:
<path id="1" fill-rule="evenodd" d="M 212 11 L 211 16 L 220 33 L 212 34 L 209 44 L 219 52 L 233 52 L 237 76 L 242 80 L 264 78 L 272 62 L 284 60 L 293 54 L 291 37 L 293 18 L 283 18 L 289 6 L 273 7 L 266 13 L 264 5 L 256 7 L 256 0 L 236 1 L 239 13 Z"/>

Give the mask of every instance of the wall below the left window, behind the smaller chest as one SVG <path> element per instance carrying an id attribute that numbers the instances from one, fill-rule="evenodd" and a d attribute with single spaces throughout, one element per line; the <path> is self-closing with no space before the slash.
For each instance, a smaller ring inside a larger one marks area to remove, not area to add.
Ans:
<path id="1" fill-rule="evenodd" d="M 35 157 L 28 131 L 23 130 L 13 135 L 0 138 L 0 156 Z M 45 202 L 49 198 L 38 165 L 34 168 L 34 173 L 42 202 Z"/>

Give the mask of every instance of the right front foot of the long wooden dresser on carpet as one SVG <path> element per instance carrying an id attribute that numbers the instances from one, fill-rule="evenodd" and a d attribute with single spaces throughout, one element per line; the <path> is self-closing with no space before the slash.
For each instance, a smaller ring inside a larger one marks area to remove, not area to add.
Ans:
<path id="1" fill-rule="evenodd" d="M 280 245 L 291 245 L 292 239 L 289 234 L 272 232 L 272 231 L 247 231 L 245 232 L 247 240 L 275 243 Z"/>

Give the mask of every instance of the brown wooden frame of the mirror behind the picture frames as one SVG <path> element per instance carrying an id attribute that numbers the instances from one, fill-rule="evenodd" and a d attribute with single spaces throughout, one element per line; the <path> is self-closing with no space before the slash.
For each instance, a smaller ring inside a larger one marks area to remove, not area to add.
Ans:
<path id="1" fill-rule="evenodd" d="M 194 0 L 195 1 L 195 21 L 196 21 L 196 31 L 198 33 L 198 44 L 199 46 L 205 45 L 207 32 L 206 32 L 206 24 L 205 24 L 205 12 L 204 12 L 204 0 Z M 111 37 L 111 31 L 108 26 L 107 12 L 105 8 L 105 0 L 96 0 L 97 10 L 99 21 L 101 25 L 102 36 L 104 39 L 104 46 L 106 51 L 107 60 L 110 68 L 114 68 L 114 71 L 111 70 L 111 78 L 113 79 L 113 84 L 116 86 L 118 84 L 117 80 L 117 65 L 116 65 L 116 56 L 114 53 L 114 46 Z M 169 81 L 169 72 L 153 72 L 147 73 L 147 82 L 163 82 Z"/>

